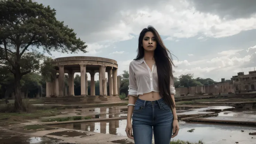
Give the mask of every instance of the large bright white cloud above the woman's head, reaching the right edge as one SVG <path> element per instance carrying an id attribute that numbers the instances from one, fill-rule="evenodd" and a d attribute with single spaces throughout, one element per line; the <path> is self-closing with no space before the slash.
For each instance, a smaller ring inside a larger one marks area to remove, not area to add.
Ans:
<path id="1" fill-rule="evenodd" d="M 190 38 L 198 34 L 221 38 L 256 29 L 256 15 L 224 20 L 218 15 L 199 12 L 186 1 L 162 3 L 154 9 L 145 6 L 137 10 L 121 11 L 120 22 L 97 35 L 108 38 L 111 35 L 114 40 L 128 40 L 134 38 L 131 33 L 138 35 L 143 28 L 152 24 L 161 35 L 167 36 L 165 40 Z"/>

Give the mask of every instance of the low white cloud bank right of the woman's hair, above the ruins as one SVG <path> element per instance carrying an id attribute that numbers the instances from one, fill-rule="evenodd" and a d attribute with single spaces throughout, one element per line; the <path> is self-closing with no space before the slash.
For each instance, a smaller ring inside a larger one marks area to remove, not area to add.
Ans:
<path id="1" fill-rule="evenodd" d="M 213 57 L 209 59 L 201 59 L 197 61 L 189 62 L 187 60 L 184 61 L 174 61 L 175 65 L 178 65 L 175 68 L 175 76 L 178 77 L 181 74 L 193 73 L 194 77 L 203 77 L 203 78 L 212 78 L 215 81 L 220 78 L 230 79 L 232 75 L 235 75 L 238 71 L 245 71 L 251 69 L 251 65 L 255 61 L 256 52 L 252 54 L 248 54 L 245 56 L 235 56 L 238 51 L 242 51 L 242 49 L 237 50 L 226 50 L 217 53 L 221 55 L 220 57 Z M 212 57 L 208 55 L 207 57 Z"/>

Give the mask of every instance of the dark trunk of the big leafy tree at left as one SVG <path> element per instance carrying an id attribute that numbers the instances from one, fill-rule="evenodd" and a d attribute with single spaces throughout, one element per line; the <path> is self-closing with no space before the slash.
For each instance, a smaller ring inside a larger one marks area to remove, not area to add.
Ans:
<path id="1" fill-rule="evenodd" d="M 23 111 L 23 103 L 22 103 L 22 97 L 21 97 L 21 76 L 18 72 L 14 75 L 14 90 L 15 90 L 15 111 L 16 112 L 22 112 Z"/>

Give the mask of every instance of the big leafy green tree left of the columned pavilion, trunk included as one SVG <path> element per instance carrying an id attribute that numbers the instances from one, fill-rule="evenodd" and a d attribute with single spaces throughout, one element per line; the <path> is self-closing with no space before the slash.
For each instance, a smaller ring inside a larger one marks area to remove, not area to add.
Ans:
<path id="1" fill-rule="evenodd" d="M 22 76 L 39 71 L 45 58 L 37 49 L 48 54 L 87 52 L 85 42 L 57 21 L 55 11 L 32 0 L 0 0 L 0 62 L 14 75 L 17 112 L 23 111 Z"/>

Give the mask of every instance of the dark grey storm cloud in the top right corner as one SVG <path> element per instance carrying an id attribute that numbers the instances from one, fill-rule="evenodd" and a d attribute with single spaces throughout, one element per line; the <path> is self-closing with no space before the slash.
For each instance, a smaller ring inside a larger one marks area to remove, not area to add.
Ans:
<path id="1" fill-rule="evenodd" d="M 202 12 L 217 14 L 221 18 L 248 18 L 256 13 L 256 0 L 192 0 Z"/>

